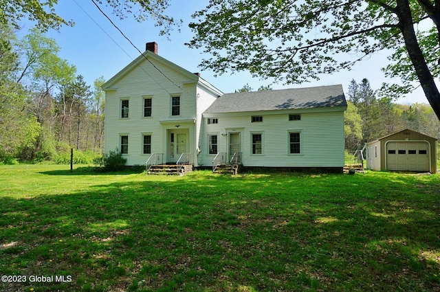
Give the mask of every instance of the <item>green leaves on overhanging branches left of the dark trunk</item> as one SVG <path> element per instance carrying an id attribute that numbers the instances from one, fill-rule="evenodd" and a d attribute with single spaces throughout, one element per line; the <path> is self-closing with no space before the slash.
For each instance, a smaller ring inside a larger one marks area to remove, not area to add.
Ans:
<path id="1" fill-rule="evenodd" d="M 370 32 L 387 27 L 364 8 L 362 1 L 211 1 L 193 14 L 195 36 L 187 45 L 214 56 L 201 66 L 218 74 L 248 70 L 261 78 L 305 82 L 382 49 Z M 340 61 L 336 52 L 361 58 Z"/>

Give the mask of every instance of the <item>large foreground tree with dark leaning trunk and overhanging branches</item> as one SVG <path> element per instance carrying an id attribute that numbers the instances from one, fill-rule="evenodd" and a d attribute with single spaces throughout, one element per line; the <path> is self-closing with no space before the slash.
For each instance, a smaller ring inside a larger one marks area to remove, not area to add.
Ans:
<path id="1" fill-rule="evenodd" d="M 434 83 L 440 74 L 437 0 L 211 0 L 192 17 L 195 36 L 187 45 L 212 56 L 202 60 L 201 67 L 217 74 L 248 70 L 261 78 L 305 82 L 391 49 L 392 62 L 410 64 L 408 74 L 407 67 L 395 65 L 398 76 L 417 76 L 440 118 L 440 93 Z M 432 28 L 417 34 L 415 25 L 428 20 Z M 337 53 L 354 57 L 338 60 Z"/>

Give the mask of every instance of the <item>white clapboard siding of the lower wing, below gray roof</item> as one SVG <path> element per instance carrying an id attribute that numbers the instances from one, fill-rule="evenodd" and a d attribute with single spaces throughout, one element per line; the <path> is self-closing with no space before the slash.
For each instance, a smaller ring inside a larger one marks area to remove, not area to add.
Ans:
<path id="1" fill-rule="evenodd" d="M 217 135 L 219 152 L 228 152 L 228 133 L 241 133 L 242 161 L 245 166 L 342 167 L 344 166 L 344 115 L 322 110 L 300 113 L 301 120 L 289 121 L 289 113 L 261 113 L 263 122 L 251 122 L 251 115 L 218 117 L 219 124 L 203 119 L 199 164 L 212 165 L 208 155 L 208 135 Z M 299 132 L 301 153 L 289 154 L 289 132 Z M 223 135 L 221 135 L 223 133 Z M 261 133 L 263 153 L 252 155 L 252 133 Z"/>

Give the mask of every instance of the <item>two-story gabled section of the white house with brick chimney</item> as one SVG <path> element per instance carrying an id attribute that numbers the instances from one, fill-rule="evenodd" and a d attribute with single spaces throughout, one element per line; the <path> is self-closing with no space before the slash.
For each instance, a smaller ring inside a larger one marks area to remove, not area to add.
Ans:
<path id="1" fill-rule="evenodd" d="M 188 153 L 197 166 L 202 113 L 219 89 L 199 74 L 157 55 L 157 43 L 108 80 L 104 152 L 118 149 L 126 165 L 142 165 L 152 153 L 175 163 Z"/>

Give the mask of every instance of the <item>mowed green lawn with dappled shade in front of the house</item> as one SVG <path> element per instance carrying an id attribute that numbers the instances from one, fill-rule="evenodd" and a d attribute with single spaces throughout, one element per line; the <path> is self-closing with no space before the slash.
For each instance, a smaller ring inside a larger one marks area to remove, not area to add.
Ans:
<path id="1" fill-rule="evenodd" d="M 0 291 L 440 291 L 439 195 L 438 174 L 0 166 L 0 275 L 27 276 Z"/>

